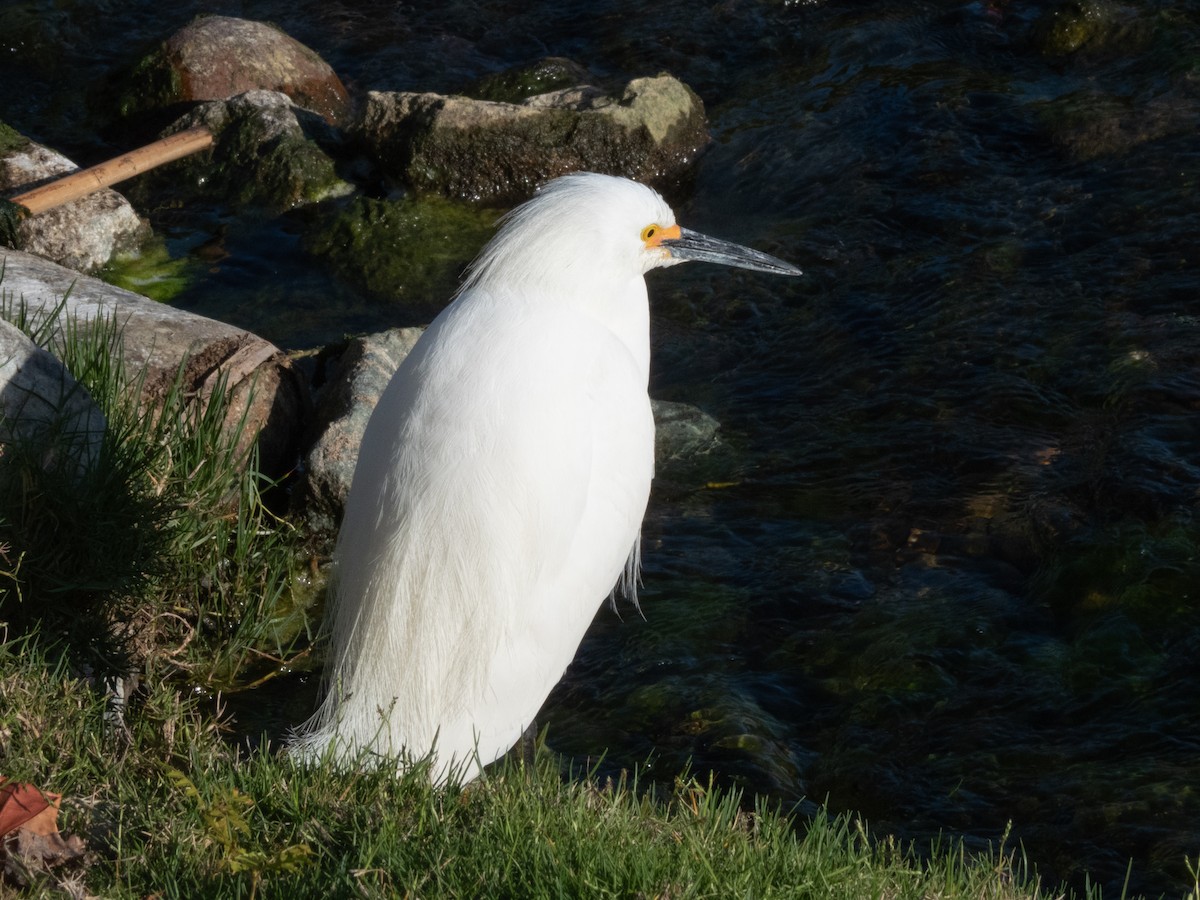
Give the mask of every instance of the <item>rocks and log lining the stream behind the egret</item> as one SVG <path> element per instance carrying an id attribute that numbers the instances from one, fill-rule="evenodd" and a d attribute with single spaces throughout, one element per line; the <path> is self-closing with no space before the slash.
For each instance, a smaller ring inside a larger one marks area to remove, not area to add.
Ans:
<path id="1" fill-rule="evenodd" d="M 262 337 L 95 276 L 154 247 L 138 209 L 168 197 L 203 198 L 269 215 L 320 209 L 307 220 L 310 251 L 361 289 L 394 296 L 402 288 L 386 260 L 413 263 L 395 222 L 413 218 L 414 204 L 434 228 L 463 226 L 470 246 L 456 259 L 461 266 L 486 240 L 496 215 L 490 210 L 526 199 L 544 181 L 589 169 L 666 188 L 686 180 L 708 142 L 703 104 L 670 74 L 604 84 L 570 60 L 547 59 L 487 79 L 474 94 L 355 97 L 318 54 L 276 28 L 199 17 L 127 73 L 118 102 L 126 116 L 170 118 L 161 136 L 206 127 L 211 149 L 38 216 L 7 204 L 2 238 L 10 250 L 0 247 L 5 314 L 55 317 L 60 331 L 67 323 L 119 322 L 126 366 L 146 373 L 144 403 L 154 403 L 176 376 L 199 402 L 223 384 L 235 397 L 230 416 L 245 416 L 257 436 L 264 470 L 298 474 L 294 512 L 314 529 L 332 530 L 370 410 L 420 330 L 328 350 L 325 380 L 314 390 L 288 354 Z M 17 196 L 76 168 L 0 124 L 0 193 Z M 41 360 L 6 370 L 6 420 L 18 410 L 35 414 L 23 397 L 65 391 L 76 400 L 62 407 L 67 420 L 56 427 L 73 428 L 72 416 L 80 415 L 85 431 L 95 425 L 94 407 L 78 407 L 80 389 L 47 364 L 44 352 L 16 331 L 6 341 L 10 359 Z M 660 466 L 716 442 L 716 422 L 698 409 L 661 403 L 655 414 L 664 425 Z"/>

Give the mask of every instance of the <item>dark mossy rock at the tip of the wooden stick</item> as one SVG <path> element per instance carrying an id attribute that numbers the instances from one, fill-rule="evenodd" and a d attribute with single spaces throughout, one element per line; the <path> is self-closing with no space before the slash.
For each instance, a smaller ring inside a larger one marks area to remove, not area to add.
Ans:
<path id="1" fill-rule="evenodd" d="M 179 119 L 168 132 L 205 126 L 216 137 L 211 150 L 181 160 L 146 185 L 194 185 L 206 198 L 214 193 L 238 205 L 276 210 L 341 197 L 353 188 L 334 169 L 332 158 L 314 136 L 326 126 L 278 91 L 252 90 L 229 100 L 203 103 Z"/>

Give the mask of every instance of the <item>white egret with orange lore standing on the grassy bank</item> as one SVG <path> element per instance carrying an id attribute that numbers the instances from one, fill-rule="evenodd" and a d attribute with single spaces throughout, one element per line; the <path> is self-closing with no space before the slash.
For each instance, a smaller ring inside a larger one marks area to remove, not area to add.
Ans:
<path id="1" fill-rule="evenodd" d="M 530 725 L 618 582 L 654 474 L 643 275 L 799 275 L 581 173 L 510 212 L 401 364 L 335 552 L 328 694 L 292 752 L 469 780 Z"/>

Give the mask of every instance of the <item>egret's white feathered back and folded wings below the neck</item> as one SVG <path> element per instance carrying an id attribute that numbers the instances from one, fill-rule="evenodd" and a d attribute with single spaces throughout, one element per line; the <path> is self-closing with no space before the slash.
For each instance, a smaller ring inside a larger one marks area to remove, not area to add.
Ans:
<path id="1" fill-rule="evenodd" d="M 595 323 L 467 311 L 431 326 L 364 436 L 332 650 L 352 743 L 436 742 L 439 761 L 478 748 L 486 763 L 529 724 L 622 571 L 653 421 L 644 376 Z"/>

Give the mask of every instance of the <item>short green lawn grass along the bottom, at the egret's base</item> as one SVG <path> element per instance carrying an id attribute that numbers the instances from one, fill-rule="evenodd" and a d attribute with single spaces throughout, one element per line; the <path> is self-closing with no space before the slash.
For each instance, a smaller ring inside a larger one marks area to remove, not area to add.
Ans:
<path id="1" fill-rule="evenodd" d="M 298 769 L 239 751 L 198 701 L 149 688 L 125 726 L 30 637 L 0 642 L 6 772 L 65 794 L 94 894 L 146 896 L 1025 898 L 1012 852 L 919 862 L 848 817 L 793 824 L 680 779 L 668 797 L 563 778 L 542 752 L 466 788 L 420 770 Z M 50 888 L 59 874 L 40 876 Z"/>

